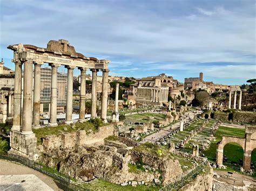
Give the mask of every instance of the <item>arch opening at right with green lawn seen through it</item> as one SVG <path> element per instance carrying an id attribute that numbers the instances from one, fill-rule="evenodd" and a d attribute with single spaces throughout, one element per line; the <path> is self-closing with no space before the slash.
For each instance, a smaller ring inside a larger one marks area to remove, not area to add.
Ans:
<path id="1" fill-rule="evenodd" d="M 237 168 L 240 171 L 240 167 L 244 164 L 244 149 L 238 143 L 227 143 L 223 148 L 223 164 Z"/>

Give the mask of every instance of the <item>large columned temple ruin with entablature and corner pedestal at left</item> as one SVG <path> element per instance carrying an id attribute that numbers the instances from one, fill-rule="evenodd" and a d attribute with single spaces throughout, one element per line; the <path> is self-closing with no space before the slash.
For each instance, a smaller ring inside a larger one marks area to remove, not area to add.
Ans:
<path id="1" fill-rule="evenodd" d="M 49 66 L 51 66 L 50 126 L 57 125 L 57 69 L 60 65 L 64 65 L 68 69 L 65 123 L 72 123 L 73 69 L 76 67 L 80 69 L 81 76 L 79 121 L 83 122 L 85 117 L 85 75 L 87 69 L 92 72 L 91 117 L 95 118 L 97 116 L 97 72 L 101 69 L 103 72 L 101 118 L 106 122 L 109 76 L 107 65 L 109 60 L 98 60 L 77 53 L 75 48 L 69 45 L 69 41 L 63 39 L 50 40 L 47 48 L 23 44 L 10 45 L 8 48 L 14 51 L 12 62 L 15 63 L 14 117 L 10 133 L 10 153 L 24 155 L 31 159 L 37 157 L 37 139 L 35 133 L 32 132 L 32 127 L 39 126 L 40 78 L 43 63 L 49 63 Z M 32 81 L 32 79 L 34 80 Z"/>

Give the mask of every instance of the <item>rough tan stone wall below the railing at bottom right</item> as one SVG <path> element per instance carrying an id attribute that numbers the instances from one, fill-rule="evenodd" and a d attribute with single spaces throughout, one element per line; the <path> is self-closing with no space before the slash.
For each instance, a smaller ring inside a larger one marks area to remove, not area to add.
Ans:
<path id="1" fill-rule="evenodd" d="M 202 172 L 198 174 L 193 181 L 190 181 L 185 186 L 181 187 L 179 190 L 210 191 L 212 190 L 212 180 L 213 180 L 213 169 L 211 167 L 207 167 L 206 172 Z"/>

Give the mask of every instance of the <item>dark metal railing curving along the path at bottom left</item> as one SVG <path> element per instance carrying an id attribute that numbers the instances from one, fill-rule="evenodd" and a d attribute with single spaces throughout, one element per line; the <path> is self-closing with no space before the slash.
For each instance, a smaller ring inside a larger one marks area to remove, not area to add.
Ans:
<path id="1" fill-rule="evenodd" d="M 16 155 L 16 154 L 2 155 L 2 154 L 0 154 L 0 159 L 19 162 L 19 163 L 21 163 L 25 166 L 28 166 L 30 168 L 35 169 L 38 172 L 46 174 L 46 175 L 50 176 L 51 178 L 53 178 L 56 181 L 56 184 L 60 189 L 75 190 L 75 191 L 78 191 L 78 190 L 79 191 L 82 191 L 82 190 L 87 191 L 87 190 L 89 190 L 87 188 L 83 188 L 83 187 L 77 186 L 74 183 L 72 183 L 72 180 L 70 179 L 70 176 L 62 174 L 62 173 L 58 172 L 57 170 L 55 170 L 53 168 L 50 168 L 48 166 L 44 166 L 42 164 L 39 164 L 38 162 L 29 160 L 29 159 L 24 158 L 20 155 Z"/>

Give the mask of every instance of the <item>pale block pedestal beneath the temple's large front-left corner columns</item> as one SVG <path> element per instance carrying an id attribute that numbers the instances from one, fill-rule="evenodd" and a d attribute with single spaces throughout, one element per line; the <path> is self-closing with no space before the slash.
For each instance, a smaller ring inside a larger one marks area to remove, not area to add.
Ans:
<path id="1" fill-rule="evenodd" d="M 21 134 L 19 131 L 10 131 L 10 154 L 22 155 L 30 160 L 37 160 L 39 157 L 36 148 L 37 138 L 35 133 Z"/>

